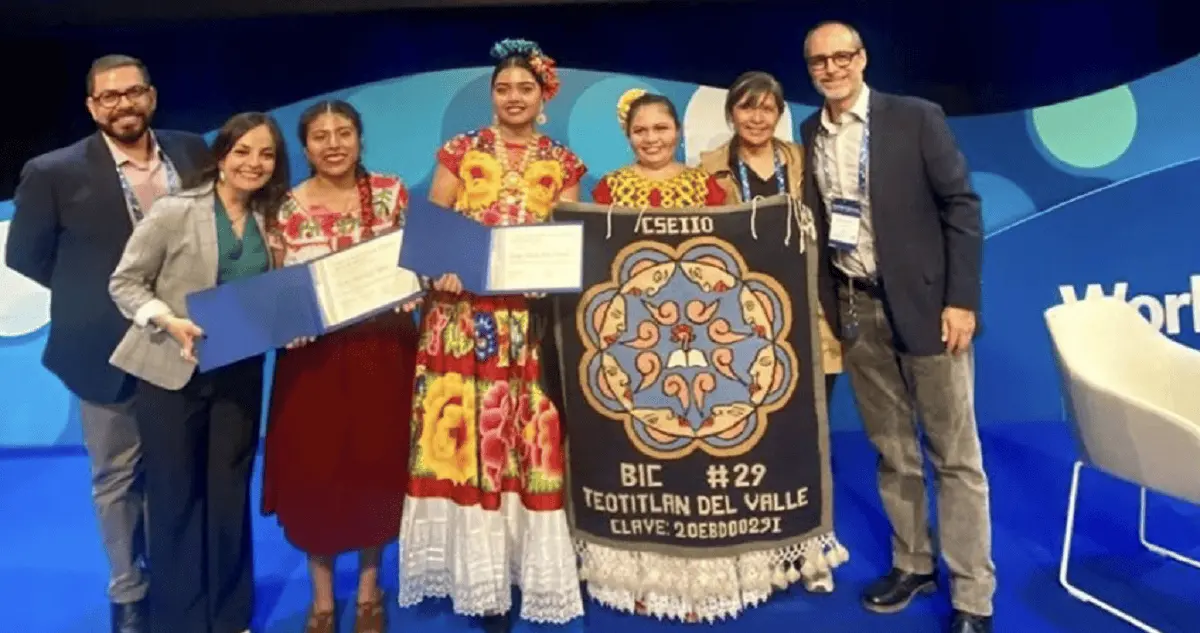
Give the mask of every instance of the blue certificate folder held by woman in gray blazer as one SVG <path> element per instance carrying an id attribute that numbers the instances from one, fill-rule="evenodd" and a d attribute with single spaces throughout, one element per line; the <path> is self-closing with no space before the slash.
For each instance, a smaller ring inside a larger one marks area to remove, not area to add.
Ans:
<path id="1" fill-rule="evenodd" d="M 317 264 L 336 255 L 283 266 L 188 295 L 188 318 L 204 331 L 196 354 L 200 372 L 265 354 L 300 337 L 318 337 L 347 327 L 419 294 L 414 291 L 385 306 L 326 322 L 318 296 Z"/>

